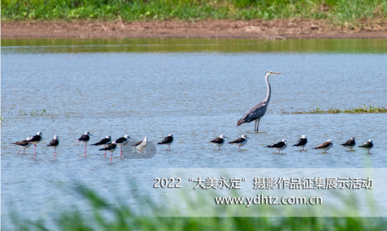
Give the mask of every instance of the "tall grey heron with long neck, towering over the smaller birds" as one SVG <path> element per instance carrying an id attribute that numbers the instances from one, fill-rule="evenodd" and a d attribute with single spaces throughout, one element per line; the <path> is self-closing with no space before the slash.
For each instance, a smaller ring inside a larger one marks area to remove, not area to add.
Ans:
<path id="1" fill-rule="evenodd" d="M 266 98 L 255 105 L 252 109 L 250 109 L 246 114 L 242 117 L 242 119 L 238 120 L 237 126 L 240 126 L 241 124 L 244 123 L 250 123 L 252 121 L 255 121 L 254 125 L 254 131 L 258 132 L 258 127 L 259 127 L 259 121 L 264 116 L 266 113 L 267 106 L 269 105 L 270 102 L 270 97 L 271 97 L 271 86 L 269 83 L 269 77 L 274 76 L 274 75 L 279 75 L 282 74 L 280 72 L 272 72 L 272 71 L 267 71 L 265 75 L 265 80 L 267 84 L 267 96 Z"/>

